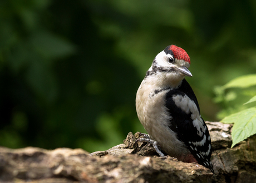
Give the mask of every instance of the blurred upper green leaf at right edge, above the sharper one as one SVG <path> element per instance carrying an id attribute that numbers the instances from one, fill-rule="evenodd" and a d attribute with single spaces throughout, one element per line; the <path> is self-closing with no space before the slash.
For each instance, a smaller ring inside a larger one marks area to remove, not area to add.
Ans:
<path id="1" fill-rule="evenodd" d="M 223 86 L 223 89 L 227 88 L 247 88 L 256 85 L 256 75 L 246 75 L 234 78 Z"/>

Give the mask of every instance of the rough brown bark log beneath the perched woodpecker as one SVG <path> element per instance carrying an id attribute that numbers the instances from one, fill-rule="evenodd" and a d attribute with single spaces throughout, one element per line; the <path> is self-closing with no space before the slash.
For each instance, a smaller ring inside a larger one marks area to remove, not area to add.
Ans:
<path id="1" fill-rule="evenodd" d="M 215 175 L 204 166 L 157 156 L 131 132 L 124 144 L 89 154 L 82 149 L 0 147 L 0 182 L 256 182 L 256 136 L 233 149 L 232 125 L 206 122 Z"/>

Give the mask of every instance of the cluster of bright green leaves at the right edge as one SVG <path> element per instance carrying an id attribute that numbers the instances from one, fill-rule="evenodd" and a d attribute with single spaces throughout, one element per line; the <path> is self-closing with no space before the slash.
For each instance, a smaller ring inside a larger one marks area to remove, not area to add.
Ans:
<path id="1" fill-rule="evenodd" d="M 215 102 L 227 106 L 218 113 L 219 117 L 223 116 L 220 122 L 234 124 L 231 132 L 233 141 L 231 147 L 254 135 L 256 133 L 256 75 L 234 78 L 224 86 L 216 86 L 215 93 Z M 241 103 L 248 97 L 250 100 Z"/>

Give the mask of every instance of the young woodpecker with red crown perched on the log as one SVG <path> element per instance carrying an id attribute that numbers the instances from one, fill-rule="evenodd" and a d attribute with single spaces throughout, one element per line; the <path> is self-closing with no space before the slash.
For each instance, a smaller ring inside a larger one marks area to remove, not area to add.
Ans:
<path id="1" fill-rule="evenodd" d="M 151 142 L 160 156 L 164 154 L 157 146 L 179 161 L 196 162 L 214 173 L 210 134 L 185 80 L 192 76 L 189 66 L 188 53 L 175 45 L 155 57 L 136 95 L 137 116 L 149 133 L 139 141 Z"/>

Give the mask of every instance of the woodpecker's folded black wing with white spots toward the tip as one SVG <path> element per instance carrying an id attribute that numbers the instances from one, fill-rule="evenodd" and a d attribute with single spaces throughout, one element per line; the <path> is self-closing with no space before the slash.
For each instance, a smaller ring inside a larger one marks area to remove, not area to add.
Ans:
<path id="1" fill-rule="evenodd" d="M 201 116 L 200 124 L 204 129 L 200 128 L 199 131 L 199 126 L 196 128 L 194 125 L 196 122 L 193 120 L 193 118 L 191 118 L 193 113 L 191 110 L 188 110 L 189 107 L 186 107 L 186 110 L 184 110 L 184 108 L 181 109 L 182 107 L 178 107 L 175 104 L 173 97 L 177 95 L 188 97 L 189 102 L 194 102 L 200 115 L 200 108 L 196 96 L 189 83 L 184 79 L 179 88 L 170 90 L 168 93 L 166 93 L 165 105 L 172 116 L 169 127 L 178 134 L 179 140 L 184 142 L 199 164 L 214 172 L 213 165 L 210 162 L 211 140 L 208 128 Z M 184 101 L 183 105 L 185 106 Z"/>

